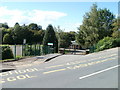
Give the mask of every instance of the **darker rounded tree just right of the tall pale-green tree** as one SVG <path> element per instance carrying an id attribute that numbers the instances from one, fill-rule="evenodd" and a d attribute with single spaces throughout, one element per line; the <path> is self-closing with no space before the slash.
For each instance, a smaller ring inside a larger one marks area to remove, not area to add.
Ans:
<path id="1" fill-rule="evenodd" d="M 113 29 L 113 20 L 115 16 L 108 9 L 99 9 L 98 10 L 98 30 L 99 30 L 99 40 L 104 37 L 111 36 Z"/>

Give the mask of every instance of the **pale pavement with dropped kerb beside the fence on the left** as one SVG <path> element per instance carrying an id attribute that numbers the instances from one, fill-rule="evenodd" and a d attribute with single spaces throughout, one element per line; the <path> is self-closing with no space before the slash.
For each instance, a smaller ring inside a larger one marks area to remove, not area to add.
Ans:
<path id="1" fill-rule="evenodd" d="M 1 62 L 0 72 L 15 70 L 18 68 L 29 67 L 36 64 L 44 63 L 60 55 L 61 54 L 47 54 L 42 56 L 24 58 L 17 61 Z"/>

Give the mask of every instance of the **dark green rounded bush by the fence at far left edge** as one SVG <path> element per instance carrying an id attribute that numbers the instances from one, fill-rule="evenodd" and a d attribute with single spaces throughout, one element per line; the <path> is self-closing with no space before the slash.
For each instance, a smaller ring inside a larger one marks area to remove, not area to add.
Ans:
<path id="1" fill-rule="evenodd" d="M 2 46 L 2 60 L 4 59 L 12 59 L 13 53 L 9 46 Z"/>

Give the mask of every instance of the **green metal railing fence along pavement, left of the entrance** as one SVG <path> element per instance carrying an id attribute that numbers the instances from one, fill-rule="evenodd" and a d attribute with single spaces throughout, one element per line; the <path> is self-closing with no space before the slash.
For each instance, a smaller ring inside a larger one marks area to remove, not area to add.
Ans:
<path id="1" fill-rule="evenodd" d="M 51 46 L 43 46 L 39 44 L 34 45 L 8 45 L 14 55 L 16 57 L 24 57 L 24 56 L 40 56 L 46 55 L 50 53 L 54 53 L 54 48 Z"/>

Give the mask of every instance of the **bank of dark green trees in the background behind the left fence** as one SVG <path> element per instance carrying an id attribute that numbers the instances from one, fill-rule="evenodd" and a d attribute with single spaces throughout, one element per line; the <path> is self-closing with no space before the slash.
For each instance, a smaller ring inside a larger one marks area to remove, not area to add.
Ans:
<path id="1" fill-rule="evenodd" d="M 11 27 L 11 28 L 2 27 L 1 28 L 2 43 L 3 44 L 23 44 L 23 40 L 26 39 L 27 41 L 26 43 L 28 44 L 33 44 L 33 43 L 42 44 L 42 40 L 45 32 L 44 30 L 41 30 L 41 29 L 42 27 L 40 25 L 37 25 L 34 23 L 31 23 L 28 26 L 26 26 L 25 24 L 20 26 L 19 23 L 15 23 L 14 27 Z"/>

